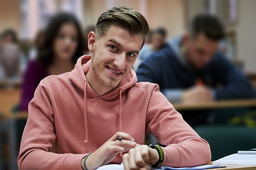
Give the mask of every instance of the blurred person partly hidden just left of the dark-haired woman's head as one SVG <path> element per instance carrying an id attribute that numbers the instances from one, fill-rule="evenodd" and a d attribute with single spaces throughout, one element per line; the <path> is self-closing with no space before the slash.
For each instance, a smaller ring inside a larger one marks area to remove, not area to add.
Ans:
<path id="1" fill-rule="evenodd" d="M 45 38 L 45 31 L 39 30 L 38 33 L 36 34 L 35 40 L 33 40 L 33 46 L 28 52 L 29 60 L 36 60 L 36 57 L 38 57 L 38 49 L 42 47 L 44 38 Z"/>

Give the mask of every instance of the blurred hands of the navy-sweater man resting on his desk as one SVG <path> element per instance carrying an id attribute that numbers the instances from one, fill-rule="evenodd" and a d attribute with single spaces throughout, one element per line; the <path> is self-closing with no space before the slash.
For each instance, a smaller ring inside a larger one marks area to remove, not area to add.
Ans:
<path id="1" fill-rule="evenodd" d="M 213 96 L 211 91 L 206 86 L 194 86 L 182 93 L 182 101 L 186 103 L 206 102 L 212 100 Z"/>

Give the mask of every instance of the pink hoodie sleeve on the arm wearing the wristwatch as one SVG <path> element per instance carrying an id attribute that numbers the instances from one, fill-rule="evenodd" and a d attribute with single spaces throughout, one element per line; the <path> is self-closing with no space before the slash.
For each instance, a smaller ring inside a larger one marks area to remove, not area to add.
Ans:
<path id="1" fill-rule="evenodd" d="M 149 99 L 146 121 L 146 132 L 151 132 L 162 145 L 166 145 L 161 166 L 198 166 L 210 162 L 208 142 L 183 120 L 156 84 Z"/>

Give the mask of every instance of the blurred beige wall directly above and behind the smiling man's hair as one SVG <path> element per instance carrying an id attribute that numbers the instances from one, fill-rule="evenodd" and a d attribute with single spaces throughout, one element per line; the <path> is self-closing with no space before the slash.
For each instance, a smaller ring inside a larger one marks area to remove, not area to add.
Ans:
<path id="1" fill-rule="evenodd" d="M 83 26 L 95 25 L 101 13 L 113 6 L 129 6 L 140 11 L 151 29 L 163 26 L 169 36 L 183 33 L 185 6 L 183 0 L 85 0 Z"/>

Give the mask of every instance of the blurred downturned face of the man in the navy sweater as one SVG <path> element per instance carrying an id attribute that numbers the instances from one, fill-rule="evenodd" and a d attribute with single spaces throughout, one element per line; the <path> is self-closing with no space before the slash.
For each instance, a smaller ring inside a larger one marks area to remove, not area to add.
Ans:
<path id="1" fill-rule="evenodd" d="M 196 69 L 203 69 L 218 49 L 218 41 L 208 39 L 203 33 L 196 38 L 188 38 L 186 44 L 188 63 Z"/>

